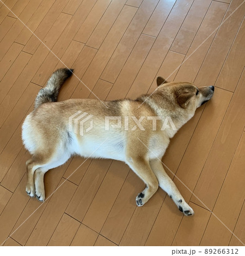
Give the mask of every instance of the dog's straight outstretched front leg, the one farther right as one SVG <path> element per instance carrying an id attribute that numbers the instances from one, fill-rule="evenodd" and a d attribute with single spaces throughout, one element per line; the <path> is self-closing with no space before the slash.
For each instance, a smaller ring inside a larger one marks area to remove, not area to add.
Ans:
<path id="1" fill-rule="evenodd" d="M 159 186 L 168 193 L 169 197 L 173 199 L 174 203 L 177 205 L 179 210 L 183 212 L 186 216 L 191 216 L 194 214 L 192 208 L 186 203 L 182 195 L 177 189 L 174 182 L 168 176 L 166 171 L 162 166 L 162 162 L 159 159 L 150 160 L 151 169 L 157 177 Z"/>

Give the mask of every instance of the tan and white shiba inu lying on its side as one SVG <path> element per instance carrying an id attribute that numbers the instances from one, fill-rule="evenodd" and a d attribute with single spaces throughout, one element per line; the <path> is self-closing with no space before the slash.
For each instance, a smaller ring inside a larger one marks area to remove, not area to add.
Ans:
<path id="1" fill-rule="evenodd" d="M 193 215 L 161 159 L 170 138 L 200 105 L 212 98 L 215 87 L 198 88 L 189 82 L 167 82 L 158 77 L 157 90 L 136 100 L 57 102 L 60 87 L 72 72 L 66 68 L 56 70 L 38 93 L 34 110 L 24 120 L 23 144 L 32 154 L 26 163 L 28 195 L 44 201 L 45 172 L 78 154 L 127 163 L 146 184 L 136 197 L 138 206 L 144 205 L 160 186 L 183 214 Z M 77 117 L 78 114 L 81 115 Z M 87 114 L 89 121 L 81 122 Z"/>

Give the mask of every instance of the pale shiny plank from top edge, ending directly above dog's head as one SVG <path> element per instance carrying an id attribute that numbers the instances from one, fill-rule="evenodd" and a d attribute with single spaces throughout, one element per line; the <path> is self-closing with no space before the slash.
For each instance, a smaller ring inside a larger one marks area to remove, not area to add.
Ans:
<path id="1" fill-rule="evenodd" d="M 180 28 L 180 31 L 177 33 L 176 38 L 174 39 L 174 42 L 170 48 L 171 51 L 186 55 L 211 2 L 212 1 L 203 0 L 195 0 L 193 2 L 186 19 Z"/>

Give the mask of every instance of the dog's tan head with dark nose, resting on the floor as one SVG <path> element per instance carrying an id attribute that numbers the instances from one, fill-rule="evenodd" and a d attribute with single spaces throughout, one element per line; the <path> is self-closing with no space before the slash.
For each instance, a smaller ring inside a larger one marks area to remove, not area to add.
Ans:
<path id="1" fill-rule="evenodd" d="M 168 82 L 161 76 L 157 78 L 157 86 L 162 93 L 174 96 L 175 102 L 183 109 L 197 109 L 213 96 L 214 86 L 197 87 L 189 82 Z"/>

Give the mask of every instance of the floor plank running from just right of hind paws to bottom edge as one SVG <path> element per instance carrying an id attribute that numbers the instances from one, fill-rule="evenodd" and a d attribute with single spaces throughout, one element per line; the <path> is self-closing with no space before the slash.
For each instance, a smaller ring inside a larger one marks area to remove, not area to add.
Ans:
<path id="1" fill-rule="evenodd" d="M 70 181 L 62 179 L 62 185 L 58 191 L 52 195 L 32 234 L 27 240 L 26 246 L 46 246 L 53 231 L 56 229 L 60 218 L 68 206 L 77 186 Z"/>

